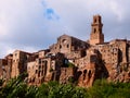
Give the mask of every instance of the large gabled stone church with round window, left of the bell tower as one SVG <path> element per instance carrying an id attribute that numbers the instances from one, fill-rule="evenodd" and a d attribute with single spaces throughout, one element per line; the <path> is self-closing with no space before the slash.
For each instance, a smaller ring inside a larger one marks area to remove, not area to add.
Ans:
<path id="1" fill-rule="evenodd" d="M 87 49 L 89 47 L 89 44 L 68 36 L 68 35 L 62 35 L 57 38 L 57 42 L 52 45 L 50 47 L 51 52 L 62 52 L 65 54 L 69 54 L 72 51 L 78 51 L 82 49 Z"/>

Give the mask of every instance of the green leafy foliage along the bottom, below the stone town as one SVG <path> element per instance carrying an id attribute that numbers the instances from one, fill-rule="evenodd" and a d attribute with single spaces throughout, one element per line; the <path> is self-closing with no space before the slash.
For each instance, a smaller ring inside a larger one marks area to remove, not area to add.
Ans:
<path id="1" fill-rule="evenodd" d="M 91 88 L 81 88 L 73 84 L 61 85 L 49 82 L 41 86 L 27 86 L 27 75 L 12 78 L 5 86 L 0 81 L 0 98 L 130 98 L 130 83 L 107 83 L 95 81 Z"/>

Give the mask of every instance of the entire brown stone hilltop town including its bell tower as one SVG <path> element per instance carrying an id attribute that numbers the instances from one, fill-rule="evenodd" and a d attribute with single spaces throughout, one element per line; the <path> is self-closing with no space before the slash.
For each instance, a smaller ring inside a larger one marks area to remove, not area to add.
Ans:
<path id="1" fill-rule="evenodd" d="M 90 40 L 62 35 L 49 49 L 34 53 L 16 50 L 0 59 L 0 77 L 9 81 L 28 73 L 28 85 L 49 81 L 90 87 L 99 78 L 130 82 L 130 40 L 104 42 L 102 19 L 93 16 Z"/>

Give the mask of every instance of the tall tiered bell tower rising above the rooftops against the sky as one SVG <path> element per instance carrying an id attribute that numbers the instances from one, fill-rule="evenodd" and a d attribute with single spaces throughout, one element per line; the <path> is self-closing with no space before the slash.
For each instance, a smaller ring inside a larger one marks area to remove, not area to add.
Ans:
<path id="1" fill-rule="evenodd" d="M 90 45 L 103 44 L 104 34 L 102 33 L 102 17 L 100 15 L 93 16 L 93 23 L 91 24 Z"/>

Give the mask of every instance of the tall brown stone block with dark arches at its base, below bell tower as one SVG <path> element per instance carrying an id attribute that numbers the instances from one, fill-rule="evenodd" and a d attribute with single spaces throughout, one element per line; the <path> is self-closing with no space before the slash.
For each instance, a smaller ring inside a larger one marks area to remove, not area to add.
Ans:
<path id="1" fill-rule="evenodd" d="M 102 58 L 98 50 L 88 49 L 87 56 L 77 60 L 78 71 L 78 86 L 90 87 L 94 79 L 107 76 L 106 70 L 101 62 Z"/>

